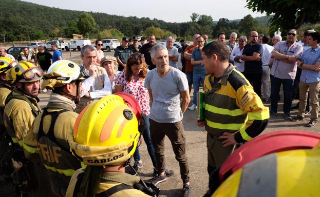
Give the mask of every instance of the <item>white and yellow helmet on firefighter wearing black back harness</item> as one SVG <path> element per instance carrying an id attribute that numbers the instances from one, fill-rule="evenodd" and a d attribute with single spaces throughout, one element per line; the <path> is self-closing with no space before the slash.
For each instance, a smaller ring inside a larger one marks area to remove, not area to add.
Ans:
<path id="1" fill-rule="evenodd" d="M 54 62 L 44 74 L 42 89 L 45 87 L 61 87 L 72 81 L 80 79 L 80 67 L 68 60 L 59 60 Z"/>

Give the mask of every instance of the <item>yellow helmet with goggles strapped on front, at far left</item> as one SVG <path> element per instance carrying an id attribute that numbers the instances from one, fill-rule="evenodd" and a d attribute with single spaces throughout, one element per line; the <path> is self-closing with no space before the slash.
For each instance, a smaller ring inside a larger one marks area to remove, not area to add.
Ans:
<path id="1" fill-rule="evenodd" d="M 20 61 L 14 68 L 8 70 L 6 78 L 12 84 L 16 82 L 35 82 L 41 80 L 43 70 L 27 61 Z"/>

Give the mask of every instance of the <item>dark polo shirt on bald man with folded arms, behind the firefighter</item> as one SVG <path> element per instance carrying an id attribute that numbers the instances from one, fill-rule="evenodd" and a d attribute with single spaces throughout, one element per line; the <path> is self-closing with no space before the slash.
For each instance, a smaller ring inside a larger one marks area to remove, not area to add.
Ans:
<path id="1" fill-rule="evenodd" d="M 259 53 L 260 57 L 262 56 L 263 48 L 260 43 L 256 42 L 252 46 L 250 43 L 248 43 L 246 46 L 244 46 L 242 54 L 252 56 L 254 52 Z M 262 73 L 262 60 L 244 62 L 244 73 Z"/>

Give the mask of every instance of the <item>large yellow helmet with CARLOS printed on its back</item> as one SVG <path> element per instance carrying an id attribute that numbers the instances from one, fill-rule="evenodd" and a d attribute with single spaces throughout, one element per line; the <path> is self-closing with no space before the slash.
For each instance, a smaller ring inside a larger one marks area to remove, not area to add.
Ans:
<path id="1" fill-rule="evenodd" d="M 88 105 L 74 124 L 69 145 L 93 166 L 119 165 L 134 154 L 140 139 L 138 120 L 118 95 L 107 95 Z"/>

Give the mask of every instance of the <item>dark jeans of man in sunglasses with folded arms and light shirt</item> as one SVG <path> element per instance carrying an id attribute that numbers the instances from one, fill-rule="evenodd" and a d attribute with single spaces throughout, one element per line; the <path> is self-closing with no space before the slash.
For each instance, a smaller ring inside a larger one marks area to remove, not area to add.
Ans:
<path id="1" fill-rule="evenodd" d="M 277 112 L 281 84 L 284 88 L 284 113 L 290 114 L 294 80 L 283 79 L 270 75 L 271 80 L 271 111 Z"/>

